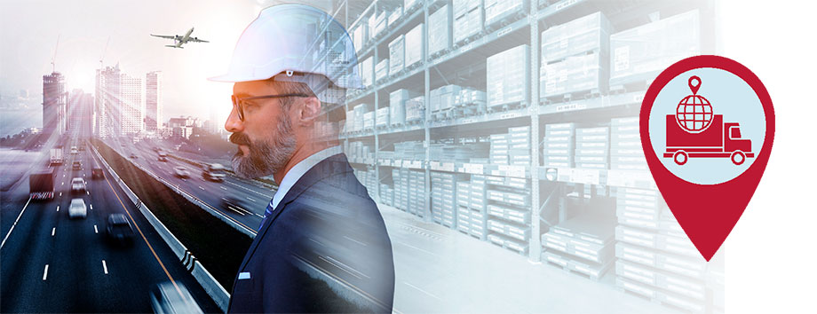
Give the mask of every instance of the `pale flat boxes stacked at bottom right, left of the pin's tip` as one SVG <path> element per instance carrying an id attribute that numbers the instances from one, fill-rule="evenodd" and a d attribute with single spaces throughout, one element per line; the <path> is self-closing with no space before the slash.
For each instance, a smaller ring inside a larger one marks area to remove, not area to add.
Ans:
<path id="1" fill-rule="evenodd" d="M 616 191 L 616 286 L 700 312 L 707 301 L 707 263 L 654 190 Z"/>

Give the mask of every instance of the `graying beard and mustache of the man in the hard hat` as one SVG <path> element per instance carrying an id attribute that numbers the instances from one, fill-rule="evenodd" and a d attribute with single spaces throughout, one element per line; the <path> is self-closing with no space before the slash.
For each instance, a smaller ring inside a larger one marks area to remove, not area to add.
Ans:
<path id="1" fill-rule="evenodd" d="M 282 119 L 283 120 L 283 119 Z M 278 122 L 274 144 L 268 140 L 248 143 L 250 155 L 241 151 L 233 156 L 233 170 L 239 177 L 256 178 L 273 175 L 286 166 L 295 153 L 296 139 L 288 121 Z"/>

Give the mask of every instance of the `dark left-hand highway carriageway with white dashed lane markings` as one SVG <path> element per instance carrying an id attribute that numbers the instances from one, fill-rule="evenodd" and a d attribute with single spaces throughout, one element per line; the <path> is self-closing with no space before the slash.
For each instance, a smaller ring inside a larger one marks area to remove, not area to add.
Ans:
<path id="1" fill-rule="evenodd" d="M 28 201 L 26 176 L 2 194 L 0 311 L 150 312 L 149 291 L 165 281 L 186 286 L 202 310 L 220 311 L 124 192 L 109 181 L 110 174 L 91 179 L 91 165 L 99 162 L 91 150 L 72 155 L 67 147 L 66 162 L 56 167 L 54 200 Z M 72 161 L 81 161 L 83 169 L 71 169 Z M 86 180 L 87 192 L 72 195 L 74 177 Z M 72 198 L 85 200 L 86 218 L 68 218 Z M 136 232 L 131 247 L 106 240 L 107 217 L 114 213 L 131 222 Z"/>

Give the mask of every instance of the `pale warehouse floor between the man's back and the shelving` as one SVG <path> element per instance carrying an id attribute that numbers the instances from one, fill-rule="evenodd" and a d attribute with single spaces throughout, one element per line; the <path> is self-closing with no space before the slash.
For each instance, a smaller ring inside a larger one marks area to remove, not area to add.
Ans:
<path id="1" fill-rule="evenodd" d="M 392 239 L 394 312 L 675 313 L 600 282 L 377 204 Z"/>

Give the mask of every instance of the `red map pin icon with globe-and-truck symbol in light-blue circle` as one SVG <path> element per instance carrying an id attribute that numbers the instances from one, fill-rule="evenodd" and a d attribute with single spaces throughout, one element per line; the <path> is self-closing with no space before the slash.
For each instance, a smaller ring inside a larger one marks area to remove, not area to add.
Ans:
<path id="1" fill-rule="evenodd" d="M 639 116 L 655 184 L 709 261 L 749 205 L 769 161 L 772 98 L 740 63 L 695 56 L 655 78 Z"/>

